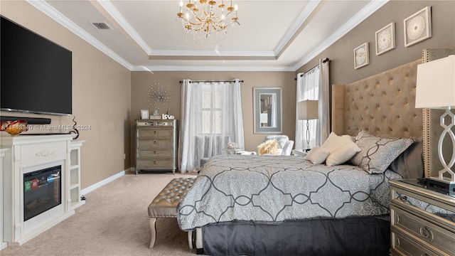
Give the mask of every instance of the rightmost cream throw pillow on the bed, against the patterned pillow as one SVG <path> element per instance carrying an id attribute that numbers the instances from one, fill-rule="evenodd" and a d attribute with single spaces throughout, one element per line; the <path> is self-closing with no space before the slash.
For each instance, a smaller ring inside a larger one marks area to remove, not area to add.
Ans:
<path id="1" fill-rule="evenodd" d="M 333 132 L 331 132 L 322 146 L 330 151 L 326 159 L 327 166 L 346 163 L 346 161 L 361 151 L 357 144 L 353 142 L 352 137 L 349 135 L 338 136 Z"/>

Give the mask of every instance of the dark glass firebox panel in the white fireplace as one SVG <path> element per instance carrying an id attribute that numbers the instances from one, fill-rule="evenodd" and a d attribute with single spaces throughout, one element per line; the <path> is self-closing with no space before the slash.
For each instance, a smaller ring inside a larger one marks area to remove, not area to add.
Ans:
<path id="1" fill-rule="evenodd" d="M 61 166 L 23 174 L 23 221 L 62 202 Z"/>

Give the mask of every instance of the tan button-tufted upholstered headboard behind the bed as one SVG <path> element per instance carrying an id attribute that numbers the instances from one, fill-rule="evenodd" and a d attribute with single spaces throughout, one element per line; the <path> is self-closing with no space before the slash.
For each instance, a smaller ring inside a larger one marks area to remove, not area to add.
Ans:
<path id="1" fill-rule="evenodd" d="M 347 85 L 332 86 L 332 130 L 380 137 L 423 136 L 422 109 L 415 106 L 417 65 L 392 68 Z"/>

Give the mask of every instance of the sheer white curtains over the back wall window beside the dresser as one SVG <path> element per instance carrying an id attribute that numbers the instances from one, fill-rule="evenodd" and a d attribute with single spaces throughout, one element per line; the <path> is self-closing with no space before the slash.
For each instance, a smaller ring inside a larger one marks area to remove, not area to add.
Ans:
<path id="1" fill-rule="evenodd" d="M 178 169 L 200 167 L 201 159 L 222 154 L 230 142 L 244 148 L 240 81 L 183 80 Z"/>

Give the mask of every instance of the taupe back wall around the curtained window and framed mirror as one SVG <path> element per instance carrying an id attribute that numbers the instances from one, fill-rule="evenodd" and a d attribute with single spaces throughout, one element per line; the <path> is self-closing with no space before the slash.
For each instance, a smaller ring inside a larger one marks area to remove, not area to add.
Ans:
<path id="1" fill-rule="evenodd" d="M 151 85 L 159 83 L 165 85 L 171 92 L 171 105 L 169 111 L 180 119 L 181 83 L 183 79 L 192 80 L 233 80 L 239 78 L 242 82 L 242 110 L 243 128 L 245 132 L 245 149 L 256 151 L 267 134 L 253 134 L 253 87 L 282 87 L 283 97 L 283 132 L 290 138 L 295 137 L 295 92 L 296 82 L 294 72 L 194 72 L 194 71 L 157 71 L 157 72 L 132 72 L 132 119 L 131 119 L 131 152 L 132 166 L 134 163 L 134 119 L 140 117 L 140 110 L 149 110 L 146 93 Z M 162 111 L 160 111 L 162 112 Z"/>

